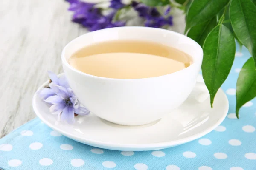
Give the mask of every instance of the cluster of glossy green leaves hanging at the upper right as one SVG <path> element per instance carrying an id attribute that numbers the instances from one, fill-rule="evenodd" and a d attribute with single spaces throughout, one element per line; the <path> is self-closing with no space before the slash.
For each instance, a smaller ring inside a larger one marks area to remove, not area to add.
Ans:
<path id="1" fill-rule="evenodd" d="M 141 0 L 149 6 L 164 6 L 169 0 Z M 246 102 L 256 97 L 256 0 L 175 0 L 186 12 L 187 36 L 204 50 L 202 73 L 210 94 L 226 80 L 233 64 L 236 44 L 244 45 L 252 57 L 239 73 L 236 116 Z M 253 60 L 254 59 L 254 60 Z"/>

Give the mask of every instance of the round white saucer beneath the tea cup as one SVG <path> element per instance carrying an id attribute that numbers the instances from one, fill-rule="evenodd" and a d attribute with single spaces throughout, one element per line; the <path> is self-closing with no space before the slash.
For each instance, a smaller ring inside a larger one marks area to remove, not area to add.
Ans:
<path id="1" fill-rule="evenodd" d="M 57 116 L 49 113 L 49 106 L 37 93 L 33 97 L 33 108 L 47 126 L 78 142 L 111 150 L 159 150 L 198 139 L 214 130 L 226 117 L 229 104 L 221 89 L 215 96 L 213 108 L 209 98 L 202 103 L 195 100 L 198 90 L 196 85 L 180 108 L 159 121 L 142 126 L 116 125 L 99 119 L 93 113 L 76 117 L 73 125 L 57 122 Z"/>

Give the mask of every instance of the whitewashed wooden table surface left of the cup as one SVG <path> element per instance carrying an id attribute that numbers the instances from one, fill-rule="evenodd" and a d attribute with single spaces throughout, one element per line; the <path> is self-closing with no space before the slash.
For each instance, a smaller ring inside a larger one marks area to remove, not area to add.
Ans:
<path id="1" fill-rule="evenodd" d="M 68 6 L 64 0 L 1 1 L 0 138 L 36 117 L 33 94 L 48 70 L 62 72 L 62 48 L 87 32 L 70 22 Z"/>

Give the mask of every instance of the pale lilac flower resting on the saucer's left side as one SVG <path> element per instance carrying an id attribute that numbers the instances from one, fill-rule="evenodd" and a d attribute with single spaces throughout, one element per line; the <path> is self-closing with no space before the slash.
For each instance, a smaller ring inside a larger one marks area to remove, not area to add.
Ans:
<path id="1" fill-rule="evenodd" d="M 48 72 L 51 79 L 49 88 L 43 88 L 39 95 L 45 102 L 51 104 L 50 112 L 58 115 L 58 120 L 72 123 L 75 114 L 87 115 L 90 111 L 79 103 L 65 78 L 58 78 L 52 72 Z M 64 85 L 64 86 L 61 86 Z"/>

